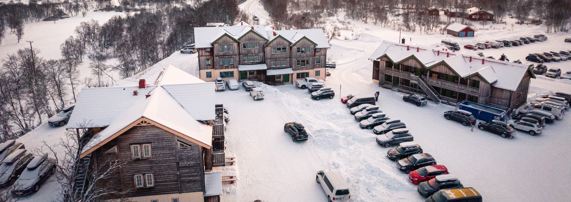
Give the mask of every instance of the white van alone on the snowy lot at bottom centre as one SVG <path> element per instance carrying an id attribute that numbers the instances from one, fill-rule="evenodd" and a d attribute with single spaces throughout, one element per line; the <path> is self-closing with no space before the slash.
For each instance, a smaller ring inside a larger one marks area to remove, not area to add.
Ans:
<path id="1" fill-rule="evenodd" d="M 315 177 L 317 183 L 321 184 L 323 191 L 329 201 L 349 201 L 349 187 L 341 174 L 336 169 L 324 169 L 317 172 Z"/>

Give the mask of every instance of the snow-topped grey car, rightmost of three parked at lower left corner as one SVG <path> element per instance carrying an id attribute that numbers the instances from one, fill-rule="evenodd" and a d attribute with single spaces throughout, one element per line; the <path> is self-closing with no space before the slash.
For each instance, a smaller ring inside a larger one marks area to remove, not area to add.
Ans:
<path id="1" fill-rule="evenodd" d="M 55 159 L 47 156 L 36 156 L 14 183 L 12 193 L 23 196 L 39 191 L 39 187 L 55 172 Z"/>

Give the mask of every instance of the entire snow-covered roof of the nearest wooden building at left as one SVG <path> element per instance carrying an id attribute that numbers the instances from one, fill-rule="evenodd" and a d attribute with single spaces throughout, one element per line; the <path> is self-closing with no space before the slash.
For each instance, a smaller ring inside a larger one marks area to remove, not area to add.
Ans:
<path id="1" fill-rule="evenodd" d="M 188 141 L 210 148 L 212 127 L 198 120 L 215 119 L 215 84 L 204 82 L 174 66 L 160 75 L 158 85 L 146 88 L 84 88 L 67 128 L 105 127 L 82 156 L 144 121 Z M 133 95 L 132 91 L 139 95 Z M 146 96 L 148 95 L 148 96 Z"/>

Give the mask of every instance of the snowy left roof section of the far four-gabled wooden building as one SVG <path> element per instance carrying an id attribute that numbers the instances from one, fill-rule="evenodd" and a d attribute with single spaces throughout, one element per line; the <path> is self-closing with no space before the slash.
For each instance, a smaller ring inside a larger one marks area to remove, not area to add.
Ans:
<path id="1" fill-rule="evenodd" d="M 245 28 L 252 29 L 252 27 L 254 27 L 254 31 L 256 31 L 256 33 L 262 35 L 264 38 L 268 38 L 266 35 L 266 29 L 263 25 L 195 27 L 194 41 L 196 44 L 196 48 L 201 49 L 201 48 L 212 47 L 212 42 L 214 42 L 216 39 L 218 39 L 225 33 L 227 33 L 234 39 L 238 39 L 242 37 L 243 34 L 247 33 L 247 30 Z"/>

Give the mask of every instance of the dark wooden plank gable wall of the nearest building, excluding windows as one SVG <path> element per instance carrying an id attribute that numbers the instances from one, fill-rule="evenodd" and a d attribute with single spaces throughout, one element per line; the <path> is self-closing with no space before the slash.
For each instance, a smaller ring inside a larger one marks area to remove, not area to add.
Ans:
<path id="1" fill-rule="evenodd" d="M 194 121 L 194 120 L 191 120 Z M 178 141 L 190 149 L 178 150 Z M 151 157 L 132 159 L 131 144 L 151 144 Z M 117 146 L 118 153 L 104 153 Z M 202 147 L 156 126 L 137 126 L 95 150 L 94 161 L 104 162 L 119 157 L 125 162 L 119 171 L 102 184 L 132 189 L 126 197 L 163 195 L 169 193 L 203 192 L 204 170 Z M 101 164 L 101 163 L 100 163 Z M 135 188 L 134 174 L 152 172 L 154 187 Z"/>

